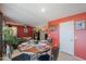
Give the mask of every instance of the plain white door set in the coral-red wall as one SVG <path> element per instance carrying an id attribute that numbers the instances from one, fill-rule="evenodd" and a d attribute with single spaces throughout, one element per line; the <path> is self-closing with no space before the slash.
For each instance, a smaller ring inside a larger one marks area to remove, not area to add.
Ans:
<path id="1" fill-rule="evenodd" d="M 74 22 L 60 24 L 60 51 L 74 55 Z"/>

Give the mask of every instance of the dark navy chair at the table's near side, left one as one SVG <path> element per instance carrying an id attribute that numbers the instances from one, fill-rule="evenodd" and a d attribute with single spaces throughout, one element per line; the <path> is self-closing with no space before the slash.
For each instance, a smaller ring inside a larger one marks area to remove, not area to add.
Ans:
<path id="1" fill-rule="evenodd" d="M 29 61 L 29 60 L 30 60 L 30 55 L 25 54 L 25 53 L 20 54 L 12 59 L 12 61 Z"/>

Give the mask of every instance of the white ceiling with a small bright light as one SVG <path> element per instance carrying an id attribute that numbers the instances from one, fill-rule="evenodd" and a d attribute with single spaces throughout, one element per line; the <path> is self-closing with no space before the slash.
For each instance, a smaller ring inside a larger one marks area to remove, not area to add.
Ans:
<path id="1" fill-rule="evenodd" d="M 4 3 L 4 15 L 32 26 L 42 26 L 49 21 L 86 12 L 85 3 Z M 41 12 L 41 9 L 46 9 Z"/>

